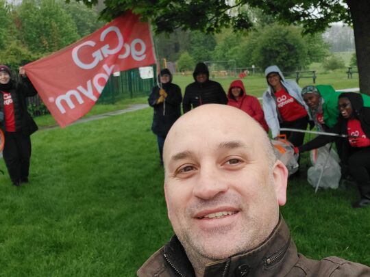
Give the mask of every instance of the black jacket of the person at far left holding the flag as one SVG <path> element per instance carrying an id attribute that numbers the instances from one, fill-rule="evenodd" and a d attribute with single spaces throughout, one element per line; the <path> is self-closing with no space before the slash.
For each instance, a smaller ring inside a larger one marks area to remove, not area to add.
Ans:
<path id="1" fill-rule="evenodd" d="M 35 96 L 37 91 L 28 78 L 22 78 L 20 82 L 11 81 L 7 85 L 0 85 L 0 90 L 12 95 L 14 105 L 14 119 L 16 131 L 21 131 L 25 135 L 31 135 L 38 129 L 36 122 L 29 116 L 25 98 Z M 0 93 L 1 98 L 3 94 Z M 4 101 L 0 101 L 0 112 L 4 112 Z M 5 118 L 0 124 L 0 128 L 5 131 Z"/>

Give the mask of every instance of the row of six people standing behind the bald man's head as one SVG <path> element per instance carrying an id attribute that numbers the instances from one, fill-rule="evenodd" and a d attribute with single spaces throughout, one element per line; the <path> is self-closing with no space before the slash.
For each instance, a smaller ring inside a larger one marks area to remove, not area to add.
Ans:
<path id="1" fill-rule="evenodd" d="M 272 137 L 285 134 L 296 153 L 335 142 L 343 177 L 351 177 L 358 184 L 360 200 L 352 207 L 370 205 L 370 97 L 336 92 L 330 85 L 308 85 L 301 89 L 295 81 L 286 80 L 277 66 L 269 66 L 264 74 L 267 90 L 261 107 L 255 96 L 246 93 L 240 80 L 232 81 L 226 94 L 219 83 L 209 79 L 204 63 L 195 67 L 195 81 L 186 87 L 184 99 L 179 86 L 172 83 L 171 72 L 167 68 L 162 70 L 159 85 L 149 96 L 149 105 L 154 108 L 152 130 L 158 137 L 161 163 L 164 140 L 181 116 L 181 103 L 184 114 L 204 104 L 227 104 L 245 111 L 264 131 L 270 130 Z M 309 124 L 341 137 L 323 134 L 304 144 L 304 131 Z M 301 131 L 294 131 L 297 129 Z"/>

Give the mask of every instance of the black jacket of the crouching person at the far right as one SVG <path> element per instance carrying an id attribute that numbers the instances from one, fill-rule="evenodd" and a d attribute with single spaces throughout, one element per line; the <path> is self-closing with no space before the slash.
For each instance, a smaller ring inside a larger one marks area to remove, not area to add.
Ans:
<path id="1" fill-rule="evenodd" d="M 352 109 L 354 110 L 354 117 L 360 121 L 361 128 L 367 135 L 370 137 L 370 107 L 364 107 L 361 94 L 355 92 L 345 92 L 342 93 L 339 97 L 347 97 L 351 102 Z M 327 130 L 328 133 L 338 133 L 340 135 L 348 135 L 347 133 L 347 119 L 339 116 L 338 122 L 334 127 Z M 299 146 L 299 152 L 305 152 L 308 150 L 316 149 L 330 142 L 339 140 L 340 143 L 337 146 L 340 146 L 341 149 L 338 150 L 338 154 L 341 157 L 341 161 L 344 164 L 347 164 L 349 156 L 353 152 L 353 147 L 348 142 L 347 137 L 333 137 L 329 135 L 319 135 L 315 137 L 310 142 Z"/>

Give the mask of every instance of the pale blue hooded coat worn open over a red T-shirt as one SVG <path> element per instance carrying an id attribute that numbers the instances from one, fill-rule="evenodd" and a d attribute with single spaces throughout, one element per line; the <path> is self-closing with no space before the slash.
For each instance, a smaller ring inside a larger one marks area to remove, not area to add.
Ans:
<path id="1" fill-rule="evenodd" d="M 293 98 L 295 98 L 295 100 L 297 100 L 298 103 L 300 103 L 306 109 L 306 111 L 308 111 L 308 107 L 306 103 L 304 103 L 304 100 L 301 96 L 301 88 L 299 85 L 297 85 L 295 81 L 286 80 L 282 74 L 282 71 L 277 66 L 269 66 L 266 68 L 266 70 L 264 70 L 264 75 L 267 77 L 267 75 L 269 75 L 271 72 L 277 72 L 280 75 L 282 85 L 286 89 L 286 92 L 293 96 Z M 267 90 L 262 96 L 264 119 L 271 129 L 272 137 L 276 137 L 280 134 L 280 122 L 282 122 L 282 119 L 279 111 L 277 110 L 273 88 L 271 85 L 269 85 L 269 82 L 267 82 L 267 84 Z"/>

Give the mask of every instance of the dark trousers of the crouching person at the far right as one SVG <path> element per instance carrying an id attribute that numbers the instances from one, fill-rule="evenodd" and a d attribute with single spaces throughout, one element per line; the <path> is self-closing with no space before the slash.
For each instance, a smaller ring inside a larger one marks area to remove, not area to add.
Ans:
<path id="1" fill-rule="evenodd" d="M 362 199 L 370 199 L 370 146 L 359 148 L 348 159 L 349 170 L 354 177 Z"/>

